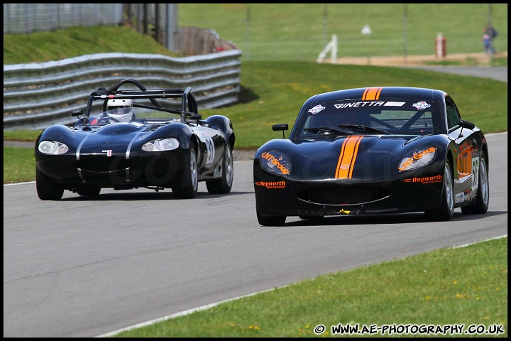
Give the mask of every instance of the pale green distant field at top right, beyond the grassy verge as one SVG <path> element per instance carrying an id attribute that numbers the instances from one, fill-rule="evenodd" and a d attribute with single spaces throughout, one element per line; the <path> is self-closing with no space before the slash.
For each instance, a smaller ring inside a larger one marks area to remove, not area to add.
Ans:
<path id="1" fill-rule="evenodd" d="M 243 61 L 314 62 L 332 34 L 338 57 L 434 55 L 439 32 L 448 55 L 481 53 L 489 11 L 488 4 L 180 4 L 178 15 L 180 26 L 211 28 L 231 40 Z M 495 49 L 507 51 L 507 4 L 491 11 Z M 370 35 L 361 34 L 366 24 Z"/>

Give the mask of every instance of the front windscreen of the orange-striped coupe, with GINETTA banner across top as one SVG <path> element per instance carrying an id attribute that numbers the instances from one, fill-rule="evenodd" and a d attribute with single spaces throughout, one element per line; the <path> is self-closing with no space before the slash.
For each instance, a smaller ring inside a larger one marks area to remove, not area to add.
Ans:
<path id="1" fill-rule="evenodd" d="M 438 117 L 434 101 L 418 99 L 387 99 L 384 101 L 344 101 L 314 104 L 305 108 L 297 122 L 295 137 L 309 138 L 322 127 L 345 130 L 346 126 L 367 126 L 366 134 L 432 134 L 434 117 Z M 357 131 L 360 133 L 361 131 Z"/>

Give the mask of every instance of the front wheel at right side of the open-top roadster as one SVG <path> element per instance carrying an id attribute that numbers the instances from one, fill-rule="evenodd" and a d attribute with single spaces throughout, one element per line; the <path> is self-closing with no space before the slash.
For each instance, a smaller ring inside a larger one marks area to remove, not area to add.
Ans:
<path id="1" fill-rule="evenodd" d="M 197 195 L 199 187 L 199 166 L 195 146 L 190 146 L 185 158 L 185 165 L 177 171 L 172 193 L 176 199 L 192 199 Z"/>

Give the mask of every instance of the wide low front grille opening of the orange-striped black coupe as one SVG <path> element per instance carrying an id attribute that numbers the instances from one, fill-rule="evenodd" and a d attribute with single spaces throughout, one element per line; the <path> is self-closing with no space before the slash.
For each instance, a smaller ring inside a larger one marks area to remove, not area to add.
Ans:
<path id="1" fill-rule="evenodd" d="M 355 205 L 383 199 L 390 190 L 368 186 L 328 186 L 311 188 L 297 194 L 298 199 L 319 205 Z"/>

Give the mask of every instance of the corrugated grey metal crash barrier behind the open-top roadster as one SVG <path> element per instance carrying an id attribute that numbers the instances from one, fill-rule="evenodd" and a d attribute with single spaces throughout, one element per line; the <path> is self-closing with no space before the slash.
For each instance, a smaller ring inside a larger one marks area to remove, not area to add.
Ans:
<path id="1" fill-rule="evenodd" d="M 4 130 L 73 124 L 89 94 L 125 78 L 148 89 L 192 87 L 200 109 L 238 102 L 241 51 L 172 58 L 97 53 L 46 63 L 4 65 Z"/>

